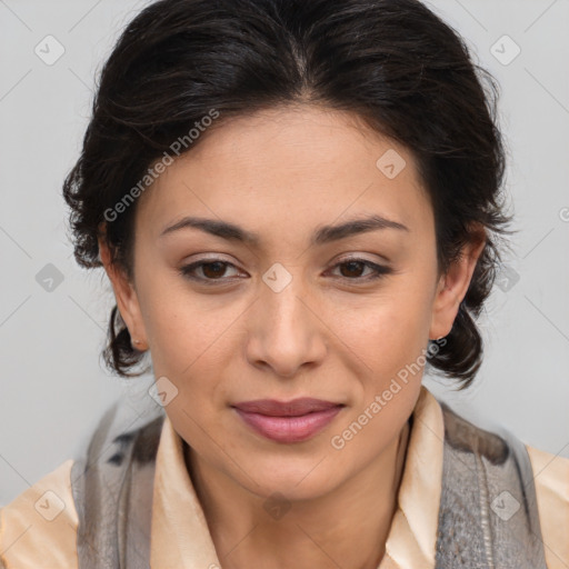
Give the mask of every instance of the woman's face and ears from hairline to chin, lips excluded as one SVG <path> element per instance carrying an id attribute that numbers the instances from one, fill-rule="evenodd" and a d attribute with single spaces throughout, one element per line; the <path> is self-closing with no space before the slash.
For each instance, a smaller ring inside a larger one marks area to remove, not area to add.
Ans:
<path id="1" fill-rule="evenodd" d="M 137 208 L 133 282 L 106 267 L 200 460 L 291 499 L 376 460 L 411 413 L 428 340 L 450 331 L 480 252 L 438 273 L 410 152 L 350 113 L 272 109 L 206 132 Z M 186 217 L 216 226 L 172 228 Z M 302 440 L 269 438 L 233 407 L 300 397 L 341 405 Z"/>

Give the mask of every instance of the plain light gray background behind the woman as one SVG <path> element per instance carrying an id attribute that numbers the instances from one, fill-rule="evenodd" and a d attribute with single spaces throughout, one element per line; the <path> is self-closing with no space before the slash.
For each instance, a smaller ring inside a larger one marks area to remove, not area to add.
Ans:
<path id="1" fill-rule="evenodd" d="M 113 400 L 124 395 L 137 405 L 134 396 L 152 382 L 138 380 L 134 393 L 103 369 L 112 292 L 102 270 L 74 263 L 61 197 L 96 73 L 147 3 L 0 0 L 0 505 L 74 458 Z M 519 232 L 480 320 L 487 348 L 475 386 L 452 392 L 442 381 L 426 385 L 480 425 L 502 425 L 569 457 L 569 3 L 429 6 L 501 86 L 507 189 Z M 64 49 L 50 66 L 34 52 L 39 46 L 44 58 L 57 54 L 49 34 Z M 521 51 L 509 61 L 516 46 Z M 48 263 L 62 278 L 51 290 L 42 280 L 53 273 Z"/>

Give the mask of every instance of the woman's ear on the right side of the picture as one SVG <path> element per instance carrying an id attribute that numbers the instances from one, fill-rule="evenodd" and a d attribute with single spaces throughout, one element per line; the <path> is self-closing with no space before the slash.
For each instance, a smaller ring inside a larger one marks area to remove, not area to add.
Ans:
<path id="1" fill-rule="evenodd" d="M 437 340 L 450 332 L 485 244 L 486 232 L 483 227 L 479 226 L 471 229 L 471 238 L 462 247 L 459 258 L 440 277 L 432 306 L 431 327 L 429 329 L 430 340 Z"/>

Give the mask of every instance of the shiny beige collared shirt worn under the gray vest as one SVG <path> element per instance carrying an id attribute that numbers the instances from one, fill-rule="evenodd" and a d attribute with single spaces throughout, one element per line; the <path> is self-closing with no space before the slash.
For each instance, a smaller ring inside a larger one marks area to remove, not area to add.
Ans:
<path id="1" fill-rule="evenodd" d="M 442 410 L 425 388 L 413 410 L 398 509 L 378 569 L 433 569 L 442 478 Z M 150 563 L 153 569 L 219 569 L 203 510 L 166 417 L 158 447 Z M 527 447 L 546 561 L 569 568 L 569 459 Z M 8 569 L 77 569 L 78 516 L 69 459 L 0 510 L 0 562 Z M 47 492 L 47 493 L 46 493 Z"/>

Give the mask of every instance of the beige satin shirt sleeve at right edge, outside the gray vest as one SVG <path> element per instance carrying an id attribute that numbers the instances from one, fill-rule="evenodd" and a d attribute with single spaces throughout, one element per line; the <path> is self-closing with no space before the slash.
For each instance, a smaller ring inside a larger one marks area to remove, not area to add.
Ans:
<path id="1" fill-rule="evenodd" d="M 549 569 L 569 566 L 569 459 L 526 446 Z"/>

